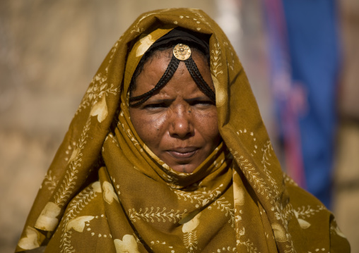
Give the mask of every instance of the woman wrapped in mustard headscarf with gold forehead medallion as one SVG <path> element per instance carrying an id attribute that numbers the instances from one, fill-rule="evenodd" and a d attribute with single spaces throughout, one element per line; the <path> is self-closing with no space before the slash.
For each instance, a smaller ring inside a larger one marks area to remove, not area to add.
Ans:
<path id="1" fill-rule="evenodd" d="M 144 13 L 105 58 L 17 252 L 349 252 L 283 175 L 233 47 L 194 9 Z"/>

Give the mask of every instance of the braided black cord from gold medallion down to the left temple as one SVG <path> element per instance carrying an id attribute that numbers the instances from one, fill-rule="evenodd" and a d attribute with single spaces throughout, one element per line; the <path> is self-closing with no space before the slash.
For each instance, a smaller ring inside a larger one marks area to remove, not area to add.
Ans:
<path id="1" fill-rule="evenodd" d="M 153 93 L 155 93 L 157 90 L 159 90 L 160 88 L 162 88 L 163 86 L 165 86 L 165 84 L 172 78 L 172 76 L 175 74 L 177 68 L 179 65 L 179 60 L 175 57 L 172 56 L 170 63 L 168 63 L 168 66 L 165 70 L 165 73 L 163 73 L 162 77 L 160 78 L 160 80 L 157 82 L 157 84 L 155 85 L 155 87 L 153 87 L 152 90 L 141 94 L 137 97 L 130 97 L 129 98 L 129 102 L 130 102 L 130 106 L 138 106 L 140 104 L 143 104 L 145 101 L 147 101 L 147 99 L 149 99 Z M 141 99 L 141 100 L 140 100 Z M 140 100 L 134 104 L 131 104 L 131 102 Z"/>

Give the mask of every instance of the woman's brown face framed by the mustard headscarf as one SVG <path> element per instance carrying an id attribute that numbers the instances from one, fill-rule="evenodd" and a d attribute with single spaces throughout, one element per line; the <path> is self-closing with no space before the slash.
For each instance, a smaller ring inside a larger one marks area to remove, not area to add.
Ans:
<path id="1" fill-rule="evenodd" d="M 171 54 L 172 49 L 158 51 L 144 64 L 131 97 L 155 87 Z M 192 58 L 214 90 L 204 56 L 192 51 Z M 175 171 L 192 173 L 220 142 L 216 105 L 199 90 L 183 61 L 162 89 L 129 112 L 141 140 Z"/>

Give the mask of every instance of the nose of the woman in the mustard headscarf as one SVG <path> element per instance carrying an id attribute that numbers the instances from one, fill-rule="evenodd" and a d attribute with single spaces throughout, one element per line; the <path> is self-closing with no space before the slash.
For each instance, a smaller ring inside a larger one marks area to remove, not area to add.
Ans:
<path id="1" fill-rule="evenodd" d="M 194 135 L 192 111 L 184 107 L 177 108 L 172 113 L 170 136 L 178 139 L 187 139 Z"/>

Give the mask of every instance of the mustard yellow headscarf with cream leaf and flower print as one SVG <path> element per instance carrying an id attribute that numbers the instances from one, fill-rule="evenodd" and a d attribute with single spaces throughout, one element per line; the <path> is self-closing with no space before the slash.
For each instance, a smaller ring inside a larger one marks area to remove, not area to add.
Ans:
<path id="1" fill-rule="evenodd" d="M 136 134 L 129 82 L 174 27 L 208 36 L 223 143 L 173 171 Z M 350 252 L 334 216 L 283 175 L 245 71 L 202 11 L 144 13 L 114 44 L 81 101 L 17 252 Z"/>

